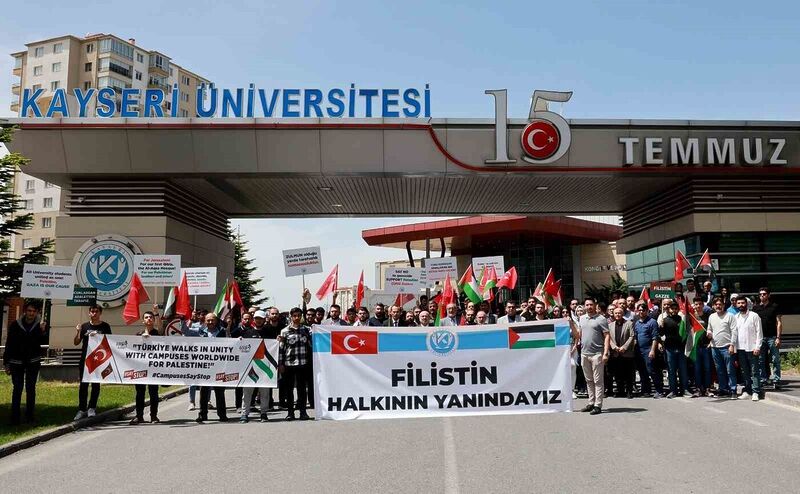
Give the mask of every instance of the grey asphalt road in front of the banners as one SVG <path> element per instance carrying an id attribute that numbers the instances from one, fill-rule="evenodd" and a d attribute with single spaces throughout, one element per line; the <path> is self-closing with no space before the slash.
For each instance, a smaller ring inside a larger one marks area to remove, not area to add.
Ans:
<path id="1" fill-rule="evenodd" d="M 351 422 L 286 423 L 276 412 L 266 424 L 202 425 L 186 404 L 185 395 L 163 403 L 161 424 L 111 423 L 6 457 L 0 491 L 749 493 L 800 486 L 800 412 L 764 402 L 609 399 L 598 416 Z"/>

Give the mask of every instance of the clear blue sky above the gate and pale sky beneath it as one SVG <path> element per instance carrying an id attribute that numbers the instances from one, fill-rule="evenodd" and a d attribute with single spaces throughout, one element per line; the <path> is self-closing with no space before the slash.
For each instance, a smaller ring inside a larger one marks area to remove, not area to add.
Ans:
<path id="1" fill-rule="evenodd" d="M 219 87 L 429 83 L 433 117 L 491 117 L 484 91 L 508 89 L 509 116 L 523 118 L 533 91 L 550 89 L 574 91 L 567 118 L 800 120 L 798 18 L 800 4 L 788 1 L 26 0 L 3 5 L 0 53 L 106 32 Z M 10 115 L 12 66 L 0 56 L 0 116 Z M 282 249 L 320 245 L 326 270 L 340 264 L 341 285 L 361 269 L 372 285 L 375 261 L 405 253 L 367 247 L 361 230 L 422 220 L 233 224 L 258 245 L 266 293 L 285 307 L 300 282 L 284 278 Z"/>

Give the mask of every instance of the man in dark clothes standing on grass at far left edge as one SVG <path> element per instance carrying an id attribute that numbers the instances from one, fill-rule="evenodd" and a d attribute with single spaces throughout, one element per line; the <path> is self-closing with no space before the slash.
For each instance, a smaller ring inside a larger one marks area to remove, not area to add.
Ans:
<path id="1" fill-rule="evenodd" d="M 25 304 L 23 316 L 8 327 L 3 368 L 11 374 L 11 425 L 19 424 L 22 387 L 25 387 L 25 420 L 33 422 L 36 406 L 36 379 L 42 361 L 42 345 L 47 342 L 47 325 L 39 318 L 39 309 Z"/>

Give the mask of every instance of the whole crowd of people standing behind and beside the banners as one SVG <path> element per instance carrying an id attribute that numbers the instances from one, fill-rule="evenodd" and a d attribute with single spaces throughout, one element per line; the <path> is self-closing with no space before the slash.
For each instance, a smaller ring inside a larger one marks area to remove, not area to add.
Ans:
<path id="1" fill-rule="evenodd" d="M 334 303 L 322 307 L 303 304 L 288 313 L 277 307 L 251 307 L 239 314 L 228 314 L 220 321 L 217 314 L 196 310 L 172 334 L 205 338 L 277 339 L 278 398 L 269 388 L 236 388 L 235 407 L 241 422 L 248 422 L 253 407 L 259 406 L 259 420 L 268 421 L 271 410 L 285 410 L 286 420 L 309 420 L 307 408 L 314 406 L 311 359 L 312 326 L 315 324 L 369 327 L 471 326 L 510 324 L 520 321 L 567 319 L 571 326 L 571 362 L 573 398 L 585 393 L 588 404 L 581 409 L 590 414 L 602 412 L 603 398 L 673 398 L 691 393 L 693 397 L 738 397 L 758 401 L 765 386 L 780 386 L 781 311 L 770 301 L 769 289 L 758 292 L 754 303 L 743 295 L 728 296 L 722 289 L 712 293 L 711 283 L 695 289 L 693 281 L 686 289 L 676 286 L 675 298 L 639 300 L 633 294 L 612 293 L 611 300 L 587 297 L 582 303 L 572 299 L 565 307 L 549 306 L 535 297 L 517 304 L 482 301 L 475 304 L 460 299 L 449 303 L 439 314 L 436 298 L 419 298 L 413 309 L 382 303 L 350 307 L 342 313 Z M 494 310 L 493 310 L 494 309 Z M 502 311 L 502 314 L 500 313 Z M 702 324 L 705 333 L 687 346 L 687 312 Z M 111 327 L 102 320 L 99 305 L 89 308 L 89 320 L 75 328 L 74 344 L 81 345 L 81 378 L 84 372 L 88 339 L 93 334 L 110 334 Z M 437 314 L 439 317 L 437 318 Z M 158 307 L 144 313 L 142 337 L 164 334 Z M 12 424 L 21 419 L 21 397 L 26 391 L 25 419 L 32 422 L 35 410 L 35 387 L 41 362 L 41 344 L 47 340 L 48 326 L 34 303 L 24 307 L 23 315 L 8 332 L 3 366 L 11 374 Z M 691 351 L 689 351 L 691 347 Z M 579 372 L 580 371 L 580 372 Z M 667 383 L 664 383 L 666 371 Z M 638 380 L 637 380 L 638 374 Z M 738 384 L 742 383 L 741 392 Z M 716 386 L 715 386 L 716 384 Z M 136 386 L 136 414 L 131 425 L 144 422 L 145 395 L 150 398 L 150 421 L 158 419 L 158 386 Z M 199 409 L 196 421 L 208 420 L 215 409 L 220 421 L 227 421 L 228 408 L 224 387 L 189 388 L 189 410 Z M 212 393 L 213 392 L 213 393 Z M 211 395 L 214 403 L 211 403 Z M 79 385 L 78 412 L 75 420 L 96 414 L 100 385 Z M 198 396 L 199 395 L 199 396 Z"/>

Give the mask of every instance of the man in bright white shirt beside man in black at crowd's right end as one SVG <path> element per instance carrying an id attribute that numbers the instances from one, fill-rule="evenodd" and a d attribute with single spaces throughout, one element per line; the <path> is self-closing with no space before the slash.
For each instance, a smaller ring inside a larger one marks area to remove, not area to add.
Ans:
<path id="1" fill-rule="evenodd" d="M 747 297 L 739 295 L 734 301 L 736 305 L 736 348 L 738 349 L 739 368 L 744 377 L 744 391 L 739 397 L 746 400 L 751 394 L 753 401 L 761 398 L 761 343 L 764 333 L 761 330 L 761 318 L 747 307 Z"/>

